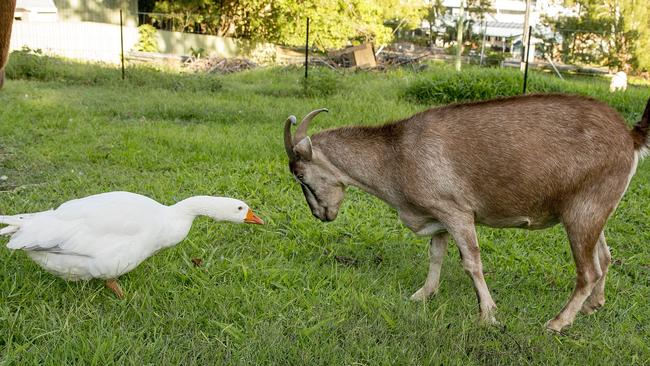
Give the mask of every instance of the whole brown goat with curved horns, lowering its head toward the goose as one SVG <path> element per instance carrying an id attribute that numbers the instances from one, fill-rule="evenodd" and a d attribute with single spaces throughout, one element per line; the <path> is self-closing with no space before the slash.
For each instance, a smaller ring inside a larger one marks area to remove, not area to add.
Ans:
<path id="1" fill-rule="evenodd" d="M 429 273 L 413 300 L 438 289 L 449 234 L 476 290 L 481 318 L 496 305 L 483 278 L 475 225 L 542 229 L 562 223 L 577 268 L 575 290 L 547 323 L 561 331 L 582 309 L 605 302 L 611 261 L 603 228 L 646 148 L 650 101 L 630 131 L 612 108 L 570 95 L 529 95 L 432 108 L 376 127 L 307 136 L 308 114 L 284 141 L 289 167 L 314 216 L 336 218 L 345 187 L 397 209 L 404 224 L 431 235 Z"/>

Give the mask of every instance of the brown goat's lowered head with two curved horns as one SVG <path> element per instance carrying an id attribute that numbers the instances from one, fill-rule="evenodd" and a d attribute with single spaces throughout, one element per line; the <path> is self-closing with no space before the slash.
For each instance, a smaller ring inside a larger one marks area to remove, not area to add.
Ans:
<path id="1" fill-rule="evenodd" d="M 310 112 L 300 122 L 296 134 L 291 137 L 291 125 L 296 117 L 290 116 L 284 125 L 284 147 L 289 155 L 289 169 L 300 183 L 311 213 L 321 221 L 333 221 L 345 194 L 338 169 L 316 146 L 312 146 L 307 136 L 311 120 L 327 109 Z"/>

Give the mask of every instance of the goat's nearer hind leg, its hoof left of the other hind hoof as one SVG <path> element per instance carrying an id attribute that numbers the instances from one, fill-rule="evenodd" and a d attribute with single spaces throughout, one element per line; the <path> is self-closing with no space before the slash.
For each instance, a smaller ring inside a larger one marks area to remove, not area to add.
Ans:
<path id="1" fill-rule="evenodd" d="M 596 207 L 590 207 L 596 210 Z M 603 213 L 602 218 L 595 218 L 591 212 L 584 215 L 569 215 L 565 218 L 564 227 L 571 244 L 571 252 L 576 263 L 576 285 L 568 303 L 562 311 L 550 320 L 546 326 L 549 330 L 560 332 L 562 328 L 571 325 L 577 312 L 582 308 L 585 300 L 592 294 L 594 288 L 603 277 L 599 261 L 598 242 L 606 218 L 609 213 Z M 592 222 L 581 221 L 581 218 L 590 217 Z"/>

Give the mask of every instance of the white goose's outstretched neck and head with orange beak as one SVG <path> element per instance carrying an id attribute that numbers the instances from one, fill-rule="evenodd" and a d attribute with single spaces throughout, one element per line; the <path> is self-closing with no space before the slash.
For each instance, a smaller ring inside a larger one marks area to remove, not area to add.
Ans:
<path id="1" fill-rule="evenodd" d="M 195 196 L 176 204 L 178 208 L 193 216 L 208 216 L 216 221 L 234 223 L 264 224 L 248 205 L 228 197 Z"/>

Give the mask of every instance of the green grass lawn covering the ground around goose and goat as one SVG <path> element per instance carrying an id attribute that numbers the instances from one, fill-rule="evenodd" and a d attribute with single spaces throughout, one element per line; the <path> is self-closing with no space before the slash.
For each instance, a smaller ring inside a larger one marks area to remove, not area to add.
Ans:
<path id="1" fill-rule="evenodd" d="M 407 117 L 426 108 L 408 90 L 453 77 L 445 67 L 328 74 L 327 85 L 302 97 L 295 68 L 219 77 L 219 88 L 201 89 L 169 84 L 199 85 L 192 75 L 155 79 L 132 68 L 130 81 L 120 82 L 112 79 L 116 69 L 62 63 L 50 78 L 24 75 L 18 57 L 10 62 L 15 78 L 0 91 L 0 175 L 8 177 L 0 181 L 1 213 L 128 190 L 167 204 L 196 194 L 240 198 L 267 225 L 198 219 L 184 242 L 121 278 L 123 301 L 101 281 L 68 283 L 45 273 L 1 239 L 1 365 L 650 362 L 647 162 L 607 226 L 615 260 L 607 303 L 579 315 L 565 336 L 543 327 L 574 284 L 561 227 L 478 229 L 504 325 L 496 328 L 478 323 L 453 245 L 438 295 L 408 300 L 424 281 L 428 240 L 378 199 L 349 189 L 335 222 L 311 216 L 287 169 L 287 115 L 328 107 L 312 131 Z M 472 73 L 476 83 L 516 78 Z M 598 79 L 557 82 L 534 73 L 531 87 L 536 80 L 605 99 L 630 124 L 650 96 L 647 87 L 610 95 Z M 194 267 L 194 257 L 204 266 Z"/>

